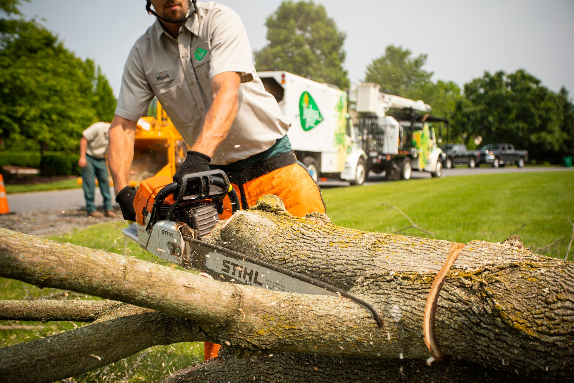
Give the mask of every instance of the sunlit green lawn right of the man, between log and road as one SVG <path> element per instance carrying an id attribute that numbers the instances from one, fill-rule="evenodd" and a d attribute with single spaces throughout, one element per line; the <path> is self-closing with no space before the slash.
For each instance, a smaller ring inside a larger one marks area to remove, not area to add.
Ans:
<path id="1" fill-rule="evenodd" d="M 568 217 L 574 221 L 574 171 L 393 181 L 324 189 L 323 198 L 340 226 L 382 233 L 408 226 L 399 212 L 381 206 L 387 203 L 433 233 L 409 229 L 406 235 L 501 242 L 525 225 L 517 234 L 526 247 L 537 250 L 557 241 L 546 255 L 564 257 L 572 234 Z"/>

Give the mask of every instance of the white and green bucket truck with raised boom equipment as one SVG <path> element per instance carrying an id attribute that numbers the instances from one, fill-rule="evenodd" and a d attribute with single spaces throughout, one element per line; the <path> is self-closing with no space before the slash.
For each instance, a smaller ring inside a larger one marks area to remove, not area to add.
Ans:
<path id="1" fill-rule="evenodd" d="M 381 93 L 379 89 L 373 83 L 351 89 L 351 100 L 360 116 L 358 141 L 367 153 L 367 171 L 384 171 L 387 179 L 409 179 L 412 170 L 440 177 L 444 154 L 429 122 L 448 121 L 430 116 L 430 105 L 422 100 Z M 398 111 L 393 116 L 388 114 L 391 108 Z"/>

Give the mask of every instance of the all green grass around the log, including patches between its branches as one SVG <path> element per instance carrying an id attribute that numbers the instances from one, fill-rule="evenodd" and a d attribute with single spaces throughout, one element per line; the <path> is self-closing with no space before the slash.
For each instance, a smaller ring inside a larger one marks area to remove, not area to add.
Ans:
<path id="1" fill-rule="evenodd" d="M 394 233 L 408 226 L 400 208 L 417 225 L 406 235 L 468 242 L 472 239 L 503 241 L 521 235 L 526 247 L 549 256 L 564 257 L 574 219 L 574 172 L 515 173 L 447 177 L 380 183 L 366 187 L 324 189 L 327 214 L 333 223 L 355 229 Z M 127 253 L 150 262 L 177 266 L 144 253 L 135 243 L 125 241 L 123 223 L 104 223 L 72 234 L 52 237 L 56 241 Z M 552 246 L 547 246 L 554 243 Z M 541 249 L 542 248 L 542 249 Z M 540 249 L 540 250 L 539 250 Z M 574 251 L 574 250 L 573 250 Z M 574 257 L 571 252 L 570 257 Z M 0 299 L 96 299 L 57 289 L 0 278 Z M 12 345 L 69 330 L 82 323 L 0 322 L 9 326 L 32 325 L 37 330 L 0 331 L 0 346 Z M 203 345 L 178 343 L 152 347 L 112 366 L 73 378 L 74 382 L 158 381 L 162 376 L 203 360 Z"/>

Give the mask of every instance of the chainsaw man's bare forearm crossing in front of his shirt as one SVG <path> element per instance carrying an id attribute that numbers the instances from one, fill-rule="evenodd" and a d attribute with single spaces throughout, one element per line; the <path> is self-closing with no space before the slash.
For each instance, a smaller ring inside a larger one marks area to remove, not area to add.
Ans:
<path id="1" fill-rule="evenodd" d="M 212 79 L 214 101 L 205 116 L 203 129 L 191 150 L 213 157 L 225 140 L 239 109 L 239 73 L 220 73 Z"/>

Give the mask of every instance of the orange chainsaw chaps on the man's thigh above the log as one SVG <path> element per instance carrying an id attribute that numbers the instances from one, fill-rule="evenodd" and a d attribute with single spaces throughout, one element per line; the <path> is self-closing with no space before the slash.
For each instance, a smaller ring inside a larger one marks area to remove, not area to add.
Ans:
<path id="1" fill-rule="evenodd" d="M 231 184 L 237 195 L 239 186 Z M 307 169 L 295 163 L 274 170 L 258 177 L 243 185 L 248 206 L 242 206 L 245 210 L 257 203 L 257 200 L 266 194 L 276 195 L 283 200 L 285 210 L 294 216 L 305 216 L 310 212 L 325 212 L 325 204 L 321 198 L 319 186 L 313 181 Z M 223 214 L 219 219 L 227 219 L 231 216 L 231 201 L 229 197 L 223 200 Z"/>

